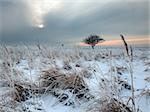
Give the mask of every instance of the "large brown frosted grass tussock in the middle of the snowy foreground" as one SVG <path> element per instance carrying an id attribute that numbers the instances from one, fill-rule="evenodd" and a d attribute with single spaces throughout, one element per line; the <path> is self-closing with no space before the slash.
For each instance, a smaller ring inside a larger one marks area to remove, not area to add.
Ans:
<path id="1" fill-rule="evenodd" d="M 68 98 L 69 96 L 66 93 L 60 93 L 60 91 L 68 90 L 78 99 L 91 98 L 86 96 L 89 89 L 83 78 L 77 74 L 63 74 L 57 69 L 49 69 L 43 72 L 40 79 L 40 87 L 45 88 L 45 93 L 51 93 L 58 98 L 61 97 L 61 94 L 65 94 Z"/>

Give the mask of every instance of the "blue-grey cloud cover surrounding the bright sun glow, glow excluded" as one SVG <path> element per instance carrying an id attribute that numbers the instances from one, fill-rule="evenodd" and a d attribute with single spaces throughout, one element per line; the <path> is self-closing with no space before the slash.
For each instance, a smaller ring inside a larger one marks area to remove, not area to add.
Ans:
<path id="1" fill-rule="evenodd" d="M 1 37 L 5 42 L 38 40 L 56 43 L 81 40 L 91 33 L 149 35 L 148 1 L 64 3 L 61 11 L 44 17 L 44 29 L 31 26 L 31 14 L 25 2 L 9 0 L 0 4 L 3 11 Z"/>

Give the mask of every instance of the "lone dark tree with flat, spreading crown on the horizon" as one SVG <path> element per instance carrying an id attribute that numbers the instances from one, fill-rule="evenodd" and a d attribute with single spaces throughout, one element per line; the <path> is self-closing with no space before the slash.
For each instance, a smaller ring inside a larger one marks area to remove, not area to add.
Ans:
<path id="1" fill-rule="evenodd" d="M 83 40 L 84 43 L 91 45 L 92 49 L 94 49 L 96 44 L 102 41 L 104 41 L 104 39 L 100 38 L 98 35 L 90 35 Z"/>

